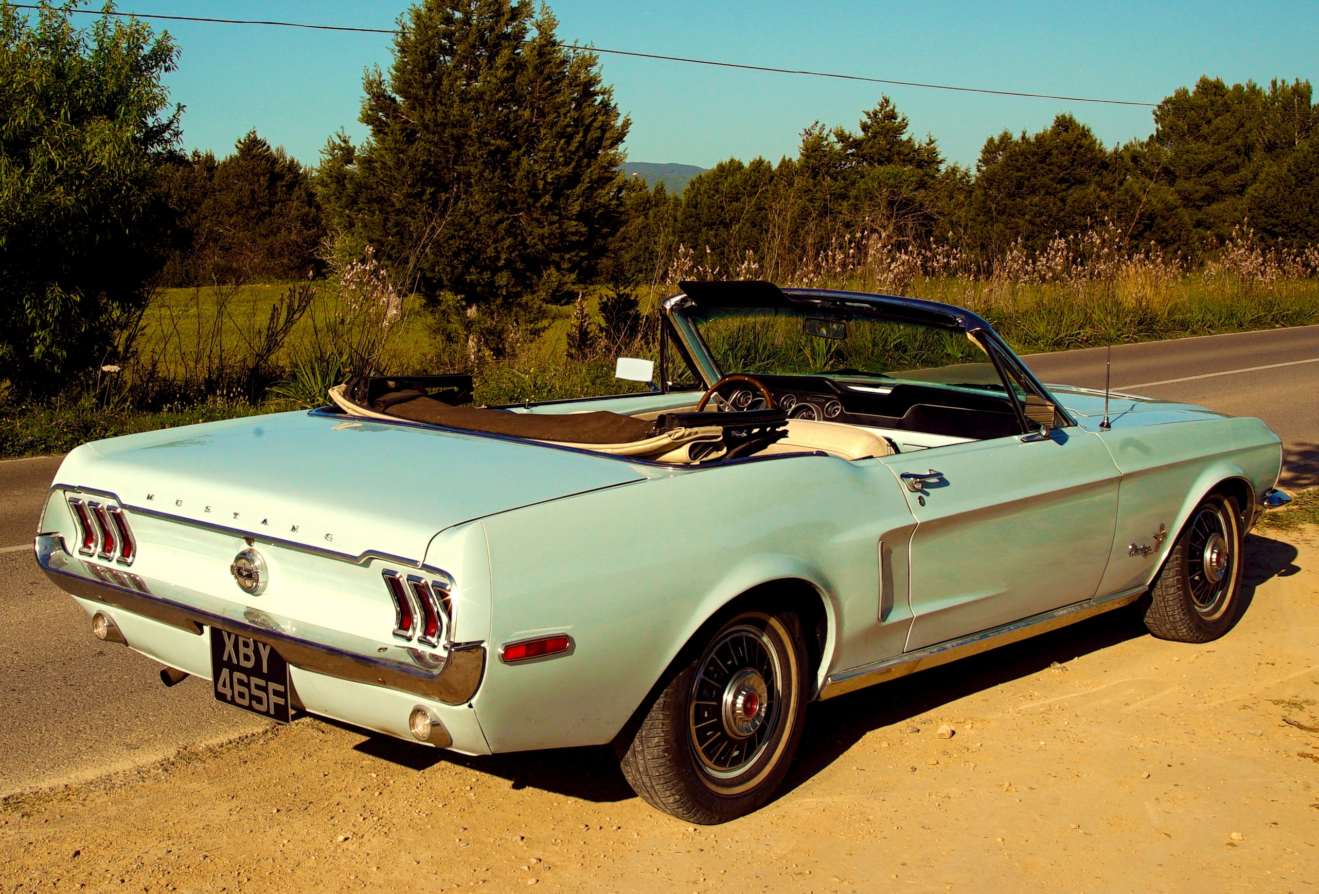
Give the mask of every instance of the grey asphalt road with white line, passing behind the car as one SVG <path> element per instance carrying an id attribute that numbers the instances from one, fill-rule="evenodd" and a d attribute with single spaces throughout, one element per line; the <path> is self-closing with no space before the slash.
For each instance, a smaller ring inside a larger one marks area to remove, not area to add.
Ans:
<path id="1" fill-rule="evenodd" d="M 1033 355 L 1046 382 L 1104 386 L 1105 351 Z M 1283 439 L 1289 487 L 1319 484 L 1319 326 L 1121 345 L 1115 390 L 1262 418 Z M 264 721 L 214 701 L 194 678 L 166 690 L 160 666 L 104 646 L 30 555 L 59 458 L 0 463 L 0 796 L 142 766 Z M 18 549 L 11 549 L 18 547 Z"/>

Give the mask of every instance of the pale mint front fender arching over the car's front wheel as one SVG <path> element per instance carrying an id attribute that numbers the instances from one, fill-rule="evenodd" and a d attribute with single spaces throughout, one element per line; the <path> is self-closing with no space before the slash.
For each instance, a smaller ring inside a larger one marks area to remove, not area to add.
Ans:
<path id="1" fill-rule="evenodd" d="M 1187 418 L 1144 426 L 1115 419 L 1112 431 L 1100 438 L 1122 472 L 1113 552 L 1100 595 L 1150 583 L 1182 525 L 1215 484 L 1240 477 L 1258 498 L 1277 483 L 1282 462 L 1278 436 L 1249 418 Z M 1159 525 L 1167 537 L 1157 543 Z M 1136 555 L 1130 555 L 1133 543 Z M 1145 546 L 1150 551 L 1141 554 Z"/>

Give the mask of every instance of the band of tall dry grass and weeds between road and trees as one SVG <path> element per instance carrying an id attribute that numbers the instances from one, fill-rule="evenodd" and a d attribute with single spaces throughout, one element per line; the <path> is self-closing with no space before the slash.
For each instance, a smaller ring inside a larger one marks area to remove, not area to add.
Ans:
<path id="1" fill-rule="evenodd" d="M 992 266 L 946 247 L 904 243 L 892 228 L 864 228 L 777 269 L 783 286 L 904 294 L 964 307 L 988 319 L 1020 353 L 1319 323 L 1319 249 L 1270 252 L 1248 228 L 1196 269 L 1153 248 L 1125 247 L 1111 224 L 1057 239 L 1039 254 L 1018 247 Z M 397 294 L 379 265 L 357 270 L 347 286 L 340 272 L 323 282 L 165 290 L 148 307 L 117 371 L 104 371 L 63 402 L 0 407 L 0 456 L 314 406 L 330 384 L 364 365 L 386 373 L 470 372 L 479 405 L 641 390 L 644 385 L 613 378 L 613 361 L 658 357 L 658 303 L 679 291 L 679 281 L 760 276 L 751 256 L 725 272 L 681 248 L 652 285 L 630 295 L 588 290 L 534 338 L 503 334 L 497 352 L 481 349 L 480 336 L 464 334 L 460 319 L 438 319 L 415 295 Z M 782 334 L 756 335 L 737 340 L 739 351 L 756 356 L 728 355 L 728 364 L 769 369 L 782 361 L 770 344 L 782 348 Z M 711 338 L 721 336 L 711 330 Z M 798 340 L 793 369 L 865 365 L 814 356 L 811 351 L 828 345 Z M 716 353 L 727 353 L 731 342 L 724 342 L 714 345 Z M 865 349 L 886 348 L 876 343 Z"/>

